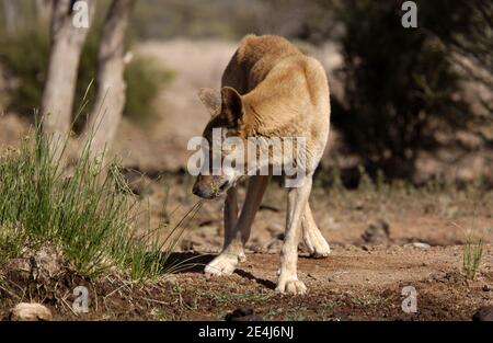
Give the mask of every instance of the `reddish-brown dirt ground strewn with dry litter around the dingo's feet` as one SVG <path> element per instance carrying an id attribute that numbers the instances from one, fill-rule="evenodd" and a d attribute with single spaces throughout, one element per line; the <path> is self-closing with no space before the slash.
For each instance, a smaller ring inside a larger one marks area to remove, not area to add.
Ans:
<path id="1" fill-rule="evenodd" d="M 190 181 L 148 182 L 134 186 L 146 194 L 142 206 L 151 214 L 150 225 L 165 220 L 171 230 L 196 202 Z M 248 261 L 231 276 L 207 279 L 203 274 L 222 243 L 222 202 L 217 199 L 204 203 L 185 221 L 182 240 L 167 262 L 170 268 L 181 266 L 162 281 L 140 285 L 118 275 L 89 281 L 67 270 L 33 284 L 28 273 L 12 270 L 0 285 L 0 316 L 8 319 L 9 309 L 21 300 L 19 289 L 22 300 L 50 307 L 56 320 L 223 320 L 238 309 L 248 313 L 240 319 L 262 320 L 470 320 L 480 307 L 493 305 L 492 192 L 393 188 L 329 194 L 316 188 L 314 217 L 332 253 L 311 259 L 300 244 L 299 278 L 309 291 L 296 297 L 274 291 L 284 193 L 276 185 L 267 191 Z M 471 237 L 485 241 L 474 281 L 462 271 L 461 244 Z M 90 290 L 85 315 L 70 307 L 72 289 L 80 285 Z M 401 308 L 406 286 L 416 290 L 415 313 Z M 249 315 L 251 309 L 254 315 Z"/>

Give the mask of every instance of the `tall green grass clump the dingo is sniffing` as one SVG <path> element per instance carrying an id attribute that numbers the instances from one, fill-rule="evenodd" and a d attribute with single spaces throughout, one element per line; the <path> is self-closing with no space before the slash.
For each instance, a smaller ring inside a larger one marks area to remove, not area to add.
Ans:
<path id="1" fill-rule="evenodd" d="M 0 157 L 0 266 L 26 248 L 51 244 L 88 277 L 116 268 L 145 281 L 169 272 L 164 262 L 180 239 L 182 221 L 164 240 L 158 238 L 162 226 L 139 233 L 138 199 L 118 163 L 93 162 L 85 148 L 68 172 L 53 160 L 48 146 L 38 126 L 19 150 Z"/>

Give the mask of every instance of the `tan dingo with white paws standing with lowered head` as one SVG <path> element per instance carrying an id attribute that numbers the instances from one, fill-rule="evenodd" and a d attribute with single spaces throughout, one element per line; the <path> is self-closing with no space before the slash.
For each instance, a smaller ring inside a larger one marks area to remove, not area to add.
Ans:
<path id="1" fill-rule="evenodd" d="M 222 75 L 221 98 L 203 89 L 199 96 L 213 117 L 203 137 L 211 141 L 213 129 L 246 140 L 250 137 L 305 139 L 305 173 L 298 187 L 288 188 L 285 241 L 276 291 L 305 294 L 298 279 L 298 242 L 303 240 L 313 256 L 326 256 L 329 244 L 317 227 L 308 198 L 329 136 L 329 84 L 323 67 L 279 36 L 245 36 Z M 217 152 L 217 151 L 216 151 Z M 210 151 L 210 153 L 213 153 Z M 220 151 L 225 158 L 231 151 Z M 229 275 L 244 261 L 243 247 L 250 237 L 255 213 L 270 175 L 249 176 L 246 198 L 238 217 L 236 183 L 240 173 L 200 174 L 194 194 L 214 198 L 227 192 L 222 252 L 205 268 L 208 275 Z"/>

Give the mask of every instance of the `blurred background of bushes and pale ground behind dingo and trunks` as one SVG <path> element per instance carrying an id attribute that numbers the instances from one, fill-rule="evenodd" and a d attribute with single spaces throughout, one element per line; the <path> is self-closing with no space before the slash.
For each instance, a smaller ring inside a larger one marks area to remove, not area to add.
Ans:
<path id="1" fill-rule="evenodd" d="M 41 107 L 53 2 L 0 2 L 0 146 L 18 145 Z M 73 113 L 96 76 L 111 2 L 95 1 Z M 333 126 L 319 185 L 331 186 L 337 175 L 356 187 L 368 174 L 415 185 L 479 181 L 491 187 L 493 4 L 415 1 L 419 27 L 404 28 L 402 2 L 135 1 L 126 33 L 124 117 L 112 151 L 126 168 L 151 176 L 183 173 L 186 142 L 208 121 L 197 90 L 219 90 L 242 36 L 277 34 L 317 57 L 329 76 Z M 92 88 L 84 113 L 94 96 Z M 83 119 L 77 119 L 76 136 L 81 127 Z"/>

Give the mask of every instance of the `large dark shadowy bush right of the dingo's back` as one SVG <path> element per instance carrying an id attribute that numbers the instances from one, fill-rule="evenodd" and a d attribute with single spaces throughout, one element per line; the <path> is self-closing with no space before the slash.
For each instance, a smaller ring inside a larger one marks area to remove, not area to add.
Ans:
<path id="1" fill-rule="evenodd" d="M 371 175 L 408 179 L 417 153 L 438 146 L 435 133 L 470 116 L 449 52 L 425 31 L 403 28 L 399 3 L 348 1 L 341 10 L 346 99 L 333 121 Z"/>

